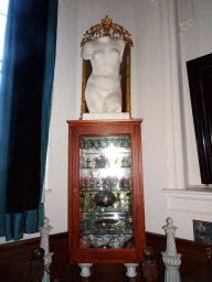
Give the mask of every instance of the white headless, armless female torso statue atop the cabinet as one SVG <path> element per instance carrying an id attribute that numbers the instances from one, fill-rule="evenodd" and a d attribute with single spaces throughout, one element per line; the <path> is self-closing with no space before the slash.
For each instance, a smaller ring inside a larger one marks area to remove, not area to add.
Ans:
<path id="1" fill-rule="evenodd" d="M 109 36 L 85 43 L 82 57 L 92 63 L 85 99 L 89 112 L 121 112 L 119 67 L 125 41 Z"/>

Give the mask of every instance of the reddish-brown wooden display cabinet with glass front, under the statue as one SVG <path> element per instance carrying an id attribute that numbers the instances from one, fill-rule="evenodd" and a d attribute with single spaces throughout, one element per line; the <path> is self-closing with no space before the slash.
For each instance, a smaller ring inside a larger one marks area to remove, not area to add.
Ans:
<path id="1" fill-rule="evenodd" d="M 141 121 L 67 121 L 71 263 L 142 262 Z"/>

